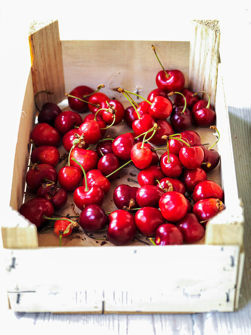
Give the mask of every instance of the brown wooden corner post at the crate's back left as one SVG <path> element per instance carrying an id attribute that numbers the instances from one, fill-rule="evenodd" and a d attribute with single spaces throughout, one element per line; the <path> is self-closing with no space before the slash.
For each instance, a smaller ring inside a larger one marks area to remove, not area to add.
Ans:
<path id="1" fill-rule="evenodd" d="M 33 22 L 29 45 L 34 94 L 40 90 L 54 92 L 39 95 L 37 105 L 59 103 L 65 97 L 65 83 L 58 21 Z"/>

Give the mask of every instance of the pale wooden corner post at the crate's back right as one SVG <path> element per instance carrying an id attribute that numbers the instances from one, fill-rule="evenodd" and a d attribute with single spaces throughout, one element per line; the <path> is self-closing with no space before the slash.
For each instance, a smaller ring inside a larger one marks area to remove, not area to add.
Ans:
<path id="1" fill-rule="evenodd" d="M 188 84 L 195 92 L 206 91 L 215 104 L 219 62 L 220 28 L 218 20 L 193 20 Z M 203 98 L 207 96 L 203 94 Z"/>

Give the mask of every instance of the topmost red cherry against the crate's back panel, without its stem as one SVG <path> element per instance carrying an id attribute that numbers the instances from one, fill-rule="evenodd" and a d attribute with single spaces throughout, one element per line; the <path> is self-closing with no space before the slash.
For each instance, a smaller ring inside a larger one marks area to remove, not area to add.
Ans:
<path id="1" fill-rule="evenodd" d="M 179 70 L 166 70 L 169 77 L 163 70 L 159 71 L 156 76 L 156 84 L 160 89 L 165 90 L 167 93 L 178 91 L 180 92 L 185 84 L 185 77 Z"/>

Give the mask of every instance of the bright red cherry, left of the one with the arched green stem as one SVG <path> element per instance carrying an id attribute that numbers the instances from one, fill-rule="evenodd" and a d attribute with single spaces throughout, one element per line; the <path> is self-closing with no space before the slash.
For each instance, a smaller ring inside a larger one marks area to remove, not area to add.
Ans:
<path id="1" fill-rule="evenodd" d="M 58 181 L 67 192 L 74 191 L 80 184 L 82 172 L 74 166 L 64 166 L 59 170 Z"/>

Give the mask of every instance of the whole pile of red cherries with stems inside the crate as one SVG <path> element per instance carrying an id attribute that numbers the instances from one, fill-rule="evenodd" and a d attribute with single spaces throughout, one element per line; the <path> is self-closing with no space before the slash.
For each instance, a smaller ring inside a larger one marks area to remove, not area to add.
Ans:
<path id="1" fill-rule="evenodd" d="M 154 245 L 201 240 L 207 221 L 225 208 L 222 188 L 207 180 L 207 172 L 220 160 L 212 149 L 220 138 L 214 126 L 216 114 L 209 96 L 199 100 L 197 94 L 204 91 L 184 88 L 181 71 L 163 68 L 156 84 L 158 88 L 147 99 L 117 87 L 131 104 L 126 110 L 118 100 L 99 91 L 104 85 L 96 91 L 77 86 L 66 94 L 72 111 L 62 111 L 54 103 L 45 103 L 41 110 L 37 107 L 38 123 L 30 134 L 33 150 L 26 175 L 27 187 L 36 197 L 23 203 L 20 213 L 37 228 L 55 220 L 60 245 L 62 237 L 79 226 L 85 233 L 107 227 L 107 239 L 114 245 L 131 242 L 137 232 Z M 174 102 L 169 98 L 172 95 Z M 138 104 L 132 96 L 143 101 Z M 82 120 L 79 113 L 87 110 L 91 113 Z M 106 130 L 122 120 L 132 131 L 105 137 Z M 217 141 L 210 148 L 202 145 L 197 132 L 189 130 L 192 124 L 216 130 Z M 69 154 L 61 157 L 64 166 L 57 173 L 61 140 Z M 157 155 L 160 149 L 166 150 L 161 157 Z M 105 213 L 101 207 L 105 195 L 119 170 L 129 163 L 140 170 L 139 187 L 117 186 L 113 202 L 118 209 Z M 52 218 L 54 210 L 66 205 L 69 192 L 81 210 L 79 217 Z"/>

